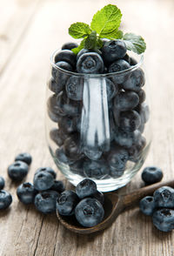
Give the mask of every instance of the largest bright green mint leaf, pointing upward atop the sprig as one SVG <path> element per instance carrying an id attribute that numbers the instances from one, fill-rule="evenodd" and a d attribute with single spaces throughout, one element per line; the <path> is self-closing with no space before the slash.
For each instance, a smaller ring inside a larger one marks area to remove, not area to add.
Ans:
<path id="1" fill-rule="evenodd" d="M 90 28 L 96 30 L 99 37 L 107 38 L 108 34 L 118 30 L 121 17 L 121 11 L 117 6 L 108 4 L 94 15 Z"/>

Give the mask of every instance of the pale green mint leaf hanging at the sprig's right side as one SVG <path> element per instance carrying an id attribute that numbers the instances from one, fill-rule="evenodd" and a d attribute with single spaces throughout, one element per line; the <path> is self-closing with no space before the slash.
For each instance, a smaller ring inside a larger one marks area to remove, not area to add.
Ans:
<path id="1" fill-rule="evenodd" d="M 134 51 L 137 54 L 141 54 L 146 49 L 146 44 L 144 42 L 144 38 L 141 36 L 137 36 L 132 33 L 126 33 L 123 37 L 124 43 L 126 47 L 130 51 Z"/>

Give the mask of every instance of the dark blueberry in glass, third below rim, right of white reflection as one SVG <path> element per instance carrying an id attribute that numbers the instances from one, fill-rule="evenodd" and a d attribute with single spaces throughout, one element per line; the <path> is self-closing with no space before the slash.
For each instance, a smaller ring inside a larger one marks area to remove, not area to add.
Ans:
<path id="1" fill-rule="evenodd" d="M 141 125 L 141 118 L 137 111 L 124 111 L 120 113 L 120 127 L 123 131 L 135 131 Z"/>

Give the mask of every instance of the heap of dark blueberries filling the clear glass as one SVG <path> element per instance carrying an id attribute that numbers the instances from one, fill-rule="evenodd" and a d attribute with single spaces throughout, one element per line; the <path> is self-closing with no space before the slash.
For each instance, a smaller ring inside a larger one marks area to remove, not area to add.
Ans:
<path id="1" fill-rule="evenodd" d="M 77 44 L 67 43 L 57 52 L 48 84 L 54 92 L 47 102 L 48 114 L 57 123 L 57 127 L 50 130 L 50 138 L 57 145 L 54 157 L 59 165 L 69 165 L 70 172 L 85 178 L 121 177 L 127 161 L 137 162 L 146 145 L 142 134 L 149 118 L 149 106 L 145 103 L 143 90 L 144 71 L 137 68 L 129 75 L 126 72 L 119 76 L 112 74 L 137 64 L 127 54 L 122 40 L 104 39 L 100 50 L 83 49 L 77 55 L 70 51 L 75 47 Z M 92 148 L 90 153 L 83 152 L 81 147 L 84 77 L 76 76 L 76 73 L 110 73 L 106 78 L 110 150 L 102 155 Z"/>

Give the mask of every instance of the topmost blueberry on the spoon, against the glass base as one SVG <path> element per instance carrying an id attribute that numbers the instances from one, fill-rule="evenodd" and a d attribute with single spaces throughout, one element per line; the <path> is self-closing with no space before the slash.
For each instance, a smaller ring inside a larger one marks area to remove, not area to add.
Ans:
<path id="1" fill-rule="evenodd" d="M 76 193 L 79 199 L 90 197 L 97 192 L 97 185 L 92 179 L 83 179 L 77 184 Z"/>

